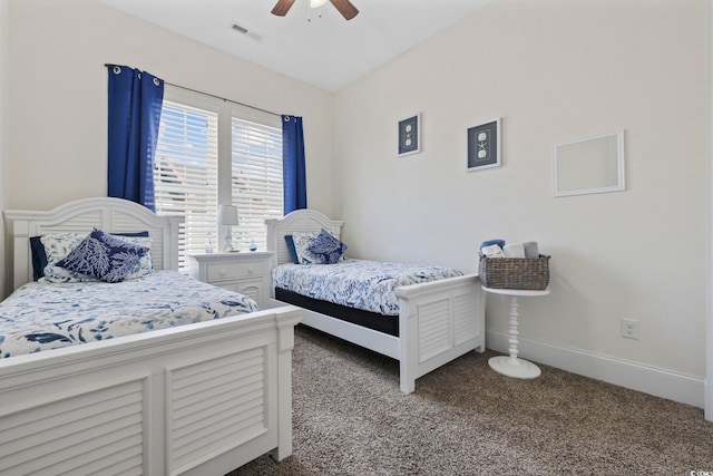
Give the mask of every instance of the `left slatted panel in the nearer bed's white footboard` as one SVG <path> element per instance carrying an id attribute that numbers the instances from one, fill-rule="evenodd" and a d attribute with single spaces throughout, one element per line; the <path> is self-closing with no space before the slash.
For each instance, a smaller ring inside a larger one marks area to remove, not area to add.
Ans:
<path id="1" fill-rule="evenodd" d="M 144 474 L 145 396 L 139 379 L 10 415 L 0 407 L 0 474 Z"/>

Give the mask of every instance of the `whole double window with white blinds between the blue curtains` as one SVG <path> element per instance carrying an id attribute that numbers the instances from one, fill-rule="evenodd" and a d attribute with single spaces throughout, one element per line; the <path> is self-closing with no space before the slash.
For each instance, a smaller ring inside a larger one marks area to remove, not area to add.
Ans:
<path id="1" fill-rule="evenodd" d="M 223 250 L 218 203 L 238 208 L 236 247 L 247 251 L 254 241 L 265 250 L 265 220 L 283 215 L 280 117 L 174 89 L 166 88 L 154 183 L 156 213 L 185 220 L 179 268 L 186 269 L 189 254 Z"/>

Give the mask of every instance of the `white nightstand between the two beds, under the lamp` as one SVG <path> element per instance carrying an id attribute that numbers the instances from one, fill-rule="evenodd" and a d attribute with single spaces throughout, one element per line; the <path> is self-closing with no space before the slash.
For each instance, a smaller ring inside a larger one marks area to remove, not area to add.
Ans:
<path id="1" fill-rule="evenodd" d="M 267 251 L 193 254 L 188 255 L 188 272 L 191 278 L 251 297 L 260 309 L 267 309 L 272 255 Z"/>

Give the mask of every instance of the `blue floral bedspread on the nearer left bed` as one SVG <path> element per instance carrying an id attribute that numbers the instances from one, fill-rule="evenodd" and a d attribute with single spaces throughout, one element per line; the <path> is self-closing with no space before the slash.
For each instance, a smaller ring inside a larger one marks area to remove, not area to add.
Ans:
<path id="1" fill-rule="evenodd" d="M 28 283 L 0 302 L 0 358 L 257 311 L 243 294 L 158 271 L 120 283 Z"/>

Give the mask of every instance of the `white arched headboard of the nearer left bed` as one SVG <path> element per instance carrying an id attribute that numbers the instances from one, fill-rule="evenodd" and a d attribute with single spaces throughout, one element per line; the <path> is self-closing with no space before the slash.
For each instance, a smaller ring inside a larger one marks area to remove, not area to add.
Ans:
<path id="1" fill-rule="evenodd" d="M 108 233 L 148 232 L 156 270 L 178 269 L 178 225 L 183 217 L 158 216 L 121 198 L 97 197 L 69 202 L 49 212 L 6 210 L 12 226 L 12 289 L 32 281 L 30 237 L 43 233 L 82 232 L 97 226 Z"/>

